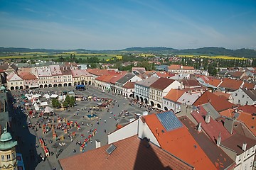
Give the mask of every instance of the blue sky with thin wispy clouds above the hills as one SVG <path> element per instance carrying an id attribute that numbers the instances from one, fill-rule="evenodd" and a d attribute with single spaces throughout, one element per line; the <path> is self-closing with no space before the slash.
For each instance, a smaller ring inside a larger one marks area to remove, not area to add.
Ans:
<path id="1" fill-rule="evenodd" d="M 256 1 L 0 0 L 0 46 L 256 50 Z"/>

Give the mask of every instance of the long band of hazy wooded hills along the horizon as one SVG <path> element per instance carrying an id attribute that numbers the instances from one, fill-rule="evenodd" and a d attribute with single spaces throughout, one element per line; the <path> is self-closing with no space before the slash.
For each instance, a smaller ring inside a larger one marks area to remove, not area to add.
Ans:
<path id="1" fill-rule="evenodd" d="M 171 47 L 129 47 L 123 50 L 53 50 L 53 49 L 30 49 L 30 48 L 14 48 L 0 47 L 0 53 L 3 52 L 82 52 L 82 53 L 117 53 L 117 52 L 132 52 L 132 53 L 156 53 L 156 54 L 188 54 L 188 55 L 228 55 L 233 57 L 256 58 L 256 50 L 239 49 L 230 50 L 223 47 L 202 47 L 197 49 L 178 50 Z"/>

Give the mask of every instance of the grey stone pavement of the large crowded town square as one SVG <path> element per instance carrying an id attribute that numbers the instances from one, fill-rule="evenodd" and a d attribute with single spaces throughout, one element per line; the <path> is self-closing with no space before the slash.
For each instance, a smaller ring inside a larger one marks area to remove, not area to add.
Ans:
<path id="1" fill-rule="evenodd" d="M 42 91 L 73 91 L 74 87 L 58 87 L 58 88 L 47 88 L 40 89 Z M 146 108 L 140 107 L 137 104 L 134 106 L 130 105 L 130 102 L 127 98 L 123 96 L 116 96 L 110 92 L 103 93 L 99 89 L 96 89 L 94 86 L 89 86 L 85 91 L 74 91 L 75 94 L 81 94 L 85 97 L 87 96 L 97 96 L 97 98 L 110 98 L 116 100 L 114 106 L 109 107 L 109 111 L 104 108 L 102 111 L 93 111 L 96 113 L 98 117 L 101 118 L 99 124 L 97 124 L 97 120 L 87 120 L 86 115 L 91 113 L 88 112 L 88 108 L 90 106 L 96 106 L 100 101 L 77 101 L 77 106 L 74 108 L 70 108 L 71 111 L 56 111 L 57 115 L 53 115 L 52 118 L 57 120 L 58 115 L 62 118 L 66 118 L 69 121 L 77 122 L 80 125 L 81 130 L 77 130 L 76 127 L 72 127 L 68 134 L 65 134 L 63 130 L 57 130 L 55 128 L 55 132 L 58 136 L 63 135 L 65 137 L 64 140 L 56 141 L 53 139 L 53 132 L 50 130 L 46 134 L 43 134 L 42 129 L 38 129 L 38 131 L 33 130 L 32 128 L 27 127 L 27 123 L 31 122 L 33 125 L 39 121 L 41 125 L 46 123 L 46 119 L 43 118 L 28 118 L 22 111 L 14 111 L 14 135 L 16 136 L 16 140 L 18 140 L 17 152 L 21 152 L 23 154 L 23 162 L 26 166 L 26 169 L 60 169 L 60 164 L 58 164 L 58 159 L 63 159 L 65 157 L 70 157 L 74 154 L 80 154 L 80 146 L 76 144 L 77 141 L 82 142 L 87 137 L 88 131 L 91 129 L 97 129 L 97 133 L 94 137 L 92 137 L 92 143 L 88 142 L 85 147 L 85 152 L 90 149 L 95 149 L 95 140 L 100 140 L 101 145 L 107 145 L 107 134 L 109 132 L 113 132 L 116 129 L 116 124 L 119 123 L 121 125 L 126 125 L 129 123 L 129 120 L 134 118 L 134 113 L 142 113 L 142 111 L 146 111 Z M 18 95 L 19 93 L 16 91 L 12 91 L 14 95 Z M 43 101 L 43 97 L 40 98 Z M 49 102 L 48 102 L 49 103 Z M 15 103 L 17 105 L 18 103 Z M 87 108 L 85 111 L 82 111 L 82 108 Z M 79 110 L 79 111 L 78 111 Z M 118 116 L 120 112 L 127 110 L 129 111 L 128 116 Z M 114 120 L 114 115 L 118 118 Z M 106 123 L 105 121 L 106 120 Z M 83 125 L 82 125 L 83 123 Z M 57 125 L 57 123 L 52 123 Z M 87 126 L 87 124 L 89 126 Z M 105 132 L 106 130 L 106 132 Z M 70 137 L 72 132 L 76 133 L 76 136 L 73 137 L 73 142 L 71 142 Z M 81 137 L 84 135 L 84 137 Z M 47 147 L 53 155 L 47 157 L 47 159 L 43 162 L 39 154 L 43 154 L 43 149 L 40 147 L 40 143 L 38 142 L 39 138 L 43 138 L 45 140 Z M 51 142 L 52 141 L 52 142 Z M 64 146 L 60 146 L 60 142 L 65 142 Z M 39 147 L 36 147 L 39 145 Z M 56 148 L 55 148 L 56 147 Z M 73 150 L 76 152 L 73 152 Z M 58 158 L 56 158 L 56 154 L 58 153 Z"/>

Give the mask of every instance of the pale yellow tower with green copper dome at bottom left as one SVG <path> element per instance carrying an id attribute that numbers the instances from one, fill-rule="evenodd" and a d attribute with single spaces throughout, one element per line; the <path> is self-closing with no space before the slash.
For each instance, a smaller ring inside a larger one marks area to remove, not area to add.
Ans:
<path id="1" fill-rule="evenodd" d="M 17 141 L 12 140 L 11 134 L 4 128 L 0 137 L 0 169 L 17 169 L 16 145 Z"/>

